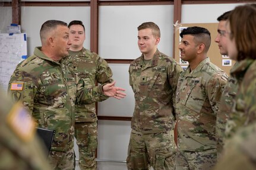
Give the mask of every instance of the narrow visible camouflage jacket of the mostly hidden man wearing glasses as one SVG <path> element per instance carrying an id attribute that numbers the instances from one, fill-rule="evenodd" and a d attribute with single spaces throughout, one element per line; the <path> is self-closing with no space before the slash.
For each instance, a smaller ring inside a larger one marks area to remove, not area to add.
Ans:
<path id="1" fill-rule="evenodd" d="M 236 62 L 235 66 L 238 64 Z M 235 67 L 234 66 L 234 67 Z M 219 111 L 216 116 L 216 141 L 217 141 L 217 153 L 218 156 L 223 150 L 225 139 L 225 128 L 227 119 L 232 111 L 233 102 L 238 91 L 238 81 L 232 76 L 227 80 L 227 84 L 220 98 Z"/>

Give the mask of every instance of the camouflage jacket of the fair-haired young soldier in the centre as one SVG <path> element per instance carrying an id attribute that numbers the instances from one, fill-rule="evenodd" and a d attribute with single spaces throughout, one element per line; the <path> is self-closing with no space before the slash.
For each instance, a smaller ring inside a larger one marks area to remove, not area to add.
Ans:
<path id="1" fill-rule="evenodd" d="M 135 97 L 131 127 L 142 133 L 172 130 L 175 120 L 175 92 L 179 73 L 174 59 L 156 51 L 145 65 L 143 54 L 129 66 L 129 84 Z"/>

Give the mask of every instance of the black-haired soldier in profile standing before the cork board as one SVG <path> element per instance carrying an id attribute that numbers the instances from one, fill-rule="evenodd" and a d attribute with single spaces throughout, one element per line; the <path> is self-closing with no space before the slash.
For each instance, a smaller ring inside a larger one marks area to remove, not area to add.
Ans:
<path id="1" fill-rule="evenodd" d="M 207 57 L 211 36 L 206 28 L 188 27 L 180 36 L 181 59 L 189 66 L 176 91 L 176 169 L 211 169 L 217 161 L 216 114 L 227 75 Z"/>

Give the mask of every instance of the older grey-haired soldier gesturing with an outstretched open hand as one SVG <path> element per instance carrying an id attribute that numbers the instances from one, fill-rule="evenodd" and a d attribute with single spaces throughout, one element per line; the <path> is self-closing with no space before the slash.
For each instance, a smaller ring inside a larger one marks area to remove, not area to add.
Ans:
<path id="1" fill-rule="evenodd" d="M 74 169 L 74 104 L 94 102 L 94 98 L 108 95 L 123 98 L 122 88 L 112 84 L 90 89 L 83 86 L 69 70 L 67 56 L 71 45 L 67 23 L 46 21 L 40 30 L 42 47 L 20 63 L 9 83 L 8 91 L 13 100 L 20 100 L 29 110 L 39 127 L 56 130 L 49 161 L 53 169 Z"/>

